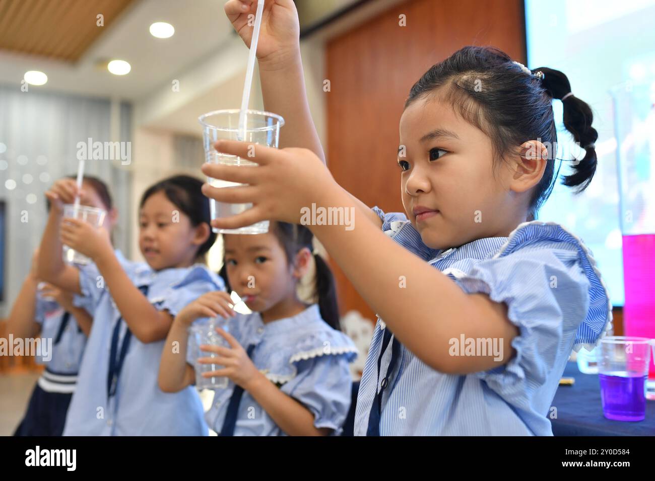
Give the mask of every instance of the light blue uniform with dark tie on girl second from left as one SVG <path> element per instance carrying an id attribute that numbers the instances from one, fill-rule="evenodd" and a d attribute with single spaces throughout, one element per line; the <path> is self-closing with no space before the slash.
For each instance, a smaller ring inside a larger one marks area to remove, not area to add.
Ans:
<path id="1" fill-rule="evenodd" d="M 145 262 L 122 256 L 119 260 L 149 302 L 171 315 L 208 291 L 225 289 L 223 281 L 200 264 L 155 272 Z M 162 349 L 173 347 L 164 346 L 165 340 L 144 344 L 131 335 L 93 264 L 81 268 L 80 286 L 83 297 L 95 306 L 94 322 L 64 435 L 207 435 L 202 403 L 193 387 L 178 393 L 159 389 Z"/>

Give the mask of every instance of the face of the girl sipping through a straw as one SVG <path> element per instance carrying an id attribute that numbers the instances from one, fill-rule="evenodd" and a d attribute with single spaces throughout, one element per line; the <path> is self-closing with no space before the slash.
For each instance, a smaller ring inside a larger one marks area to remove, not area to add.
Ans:
<path id="1" fill-rule="evenodd" d="M 223 246 L 230 287 L 248 309 L 265 312 L 295 296 L 304 271 L 288 263 L 275 234 L 226 234 Z"/>

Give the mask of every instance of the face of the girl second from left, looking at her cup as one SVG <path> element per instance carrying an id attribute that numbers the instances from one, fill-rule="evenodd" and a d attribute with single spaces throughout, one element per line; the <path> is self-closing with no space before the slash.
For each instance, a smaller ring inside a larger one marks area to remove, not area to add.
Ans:
<path id="1" fill-rule="evenodd" d="M 209 235 L 207 224 L 192 226 L 164 192 L 147 198 L 139 212 L 139 249 L 153 270 L 191 266 Z"/>

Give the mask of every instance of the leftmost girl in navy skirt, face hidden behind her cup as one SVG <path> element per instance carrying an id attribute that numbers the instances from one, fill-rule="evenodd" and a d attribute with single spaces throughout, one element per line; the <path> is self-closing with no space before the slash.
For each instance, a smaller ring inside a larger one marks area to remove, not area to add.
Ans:
<path id="1" fill-rule="evenodd" d="M 75 183 L 71 178 L 63 182 Z M 85 195 L 81 204 L 107 211 L 103 225 L 111 231 L 117 213 L 107 185 L 88 175 L 84 177 L 83 187 Z M 7 330 L 14 338 L 39 335 L 42 346 L 52 343 L 52 348 L 47 355 L 37 357 L 37 363 L 45 365 L 45 370 L 34 387 L 15 435 L 61 436 L 92 318 L 85 308 L 73 306 L 73 293 L 39 283 L 37 265 L 36 252 L 9 315 Z"/>

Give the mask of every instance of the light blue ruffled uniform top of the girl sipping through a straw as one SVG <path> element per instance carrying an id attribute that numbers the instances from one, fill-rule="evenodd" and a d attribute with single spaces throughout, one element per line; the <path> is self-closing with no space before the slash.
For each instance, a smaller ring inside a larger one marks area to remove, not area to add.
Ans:
<path id="1" fill-rule="evenodd" d="M 199 319 L 196 323 L 205 322 Z M 263 323 L 261 315 L 237 314 L 227 321 L 227 330 L 239 344 L 250 351 L 250 358 L 266 377 L 283 393 L 299 401 L 314 415 L 314 426 L 341 433 L 351 401 L 352 376 L 348 364 L 357 357 L 357 348 L 350 338 L 332 329 L 321 318 L 318 304 L 303 312 Z M 199 351 L 189 338 L 187 363 L 194 366 Z M 238 388 L 240 389 L 240 388 Z M 214 389 L 214 402 L 206 413 L 208 425 L 219 435 L 284 436 L 267 412 L 243 392 L 240 401 L 229 408 L 235 385 Z M 230 413 L 230 414 L 228 414 Z M 233 418 L 232 429 L 226 433 L 227 418 Z"/>

